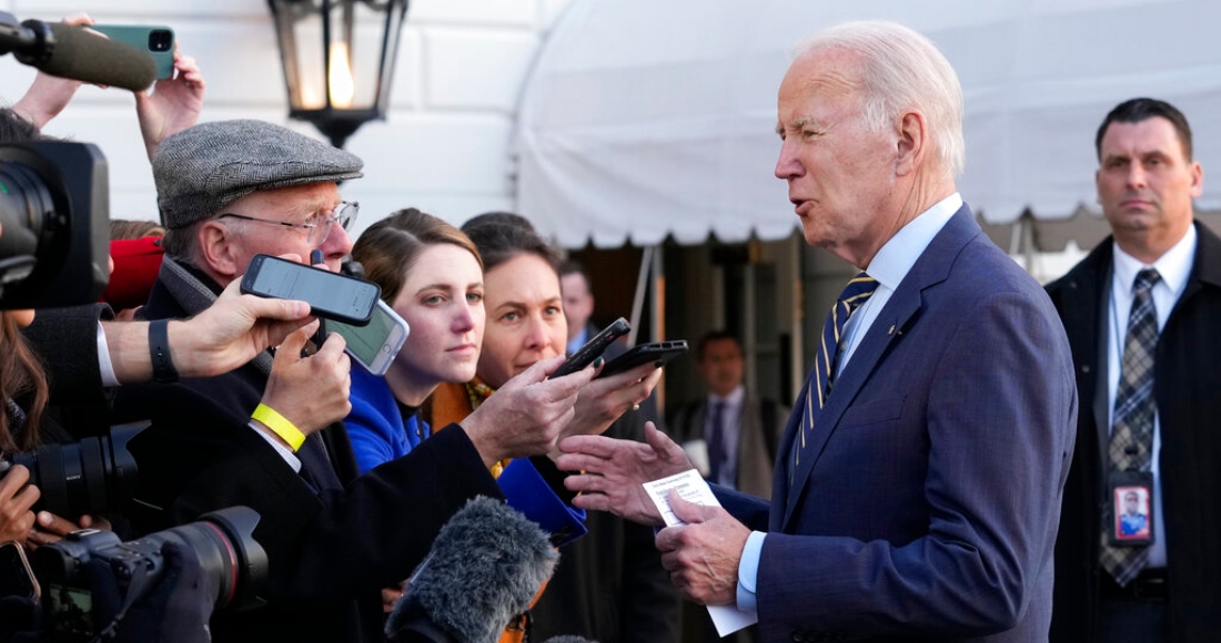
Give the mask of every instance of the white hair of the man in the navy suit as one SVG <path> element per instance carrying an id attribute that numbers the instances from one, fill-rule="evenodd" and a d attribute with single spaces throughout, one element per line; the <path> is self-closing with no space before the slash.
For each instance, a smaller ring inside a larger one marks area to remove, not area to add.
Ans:
<path id="1" fill-rule="evenodd" d="M 845 22 L 799 44 L 794 57 L 828 49 L 850 51 L 861 62 L 861 120 L 866 127 L 889 129 L 902 111 L 917 109 L 927 118 L 941 167 L 954 177 L 962 173 L 967 156 L 962 85 L 932 40 L 894 22 Z"/>

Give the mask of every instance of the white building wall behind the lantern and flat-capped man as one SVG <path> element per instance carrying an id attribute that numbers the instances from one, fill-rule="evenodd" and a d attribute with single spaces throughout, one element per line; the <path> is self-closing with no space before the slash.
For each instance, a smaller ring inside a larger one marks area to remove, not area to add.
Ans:
<path id="1" fill-rule="evenodd" d="M 403 27 L 386 122 L 371 122 L 346 149 L 365 177 L 343 185 L 359 200 L 363 229 L 415 206 L 455 223 L 514 207 L 509 140 L 518 95 L 546 32 L 569 0 L 413 0 Z M 283 72 L 261 0 L 0 0 L 18 20 L 56 21 L 84 11 L 104 23 L 167 24 L 208 83 L 201 120 L 261 118 L 324 139 L 288 121 Z M 15 102 L 33 70 L 0 59 L 0 100 Z M 46 133 L 98 144 L 110 162 L 111 216 L 156 218 L 156 192 L 134 100 L 84 87 Z M 325 139 L 324 139 L 325 140 Z"/>

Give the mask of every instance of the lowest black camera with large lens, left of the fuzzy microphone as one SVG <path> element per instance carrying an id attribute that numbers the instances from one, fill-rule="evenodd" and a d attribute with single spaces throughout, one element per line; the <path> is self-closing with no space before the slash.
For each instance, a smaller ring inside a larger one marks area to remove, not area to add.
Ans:
<path id="1" fill-rule="evenodd" d="M 192 564 L 203 571 L 214 610 L 261 604 L 258 593 L 267 576 L 267 554 L 253 536 L 258 523 L 259 514 L 253 509 L 231 506 L 126 543 L 112 532 L 81 530 L 39 547 L 31 564 L 43 586 L 43 612 L 51 637 L 89 639 L 118 616 L 111 611 L 120 598 L 127 605 L 145 598 L 161 581 L 161 547 L 167 542 L 184 545 L 194 558 Z M 96 595 L 112 592 L 99 586 L 98 562 L 109 567 L 118 597 Z"/>

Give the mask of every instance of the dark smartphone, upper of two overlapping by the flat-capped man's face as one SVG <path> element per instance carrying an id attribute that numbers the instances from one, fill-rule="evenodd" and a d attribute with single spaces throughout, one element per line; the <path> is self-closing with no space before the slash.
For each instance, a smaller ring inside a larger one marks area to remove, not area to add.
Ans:
<path id="1" fill-rule="evenodd" d="M 276 299 L 299 299 L 310 314 L 353 326 L 369 323 L 381 287 L 305 264 L 271 255 L 254 255 L 242 277 L 242 292 Z"/>

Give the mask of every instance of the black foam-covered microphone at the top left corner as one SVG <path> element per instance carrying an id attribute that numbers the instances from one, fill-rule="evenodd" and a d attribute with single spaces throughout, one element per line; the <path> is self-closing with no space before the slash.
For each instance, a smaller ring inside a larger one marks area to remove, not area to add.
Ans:
<path id="1" fill-rule="evenodd" d="M 51 76 L 132 92 L 148 89 L 156 81 L 151 54 L 88 32 L 85 27 L 37 20 L 5 27 L 2 49 Z"/>

